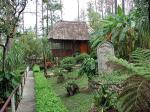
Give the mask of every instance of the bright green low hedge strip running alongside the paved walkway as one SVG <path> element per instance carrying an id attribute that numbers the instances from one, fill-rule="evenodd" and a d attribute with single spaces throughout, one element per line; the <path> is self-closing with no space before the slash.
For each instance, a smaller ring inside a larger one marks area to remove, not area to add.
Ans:
<path id="1" fill-rule="evenodd" d="M 68 112 L 61 100 L 49 86 L 43 73 L 37 72 L 38 66 L 33 67 L 35 77 L 36 112 Z"/>

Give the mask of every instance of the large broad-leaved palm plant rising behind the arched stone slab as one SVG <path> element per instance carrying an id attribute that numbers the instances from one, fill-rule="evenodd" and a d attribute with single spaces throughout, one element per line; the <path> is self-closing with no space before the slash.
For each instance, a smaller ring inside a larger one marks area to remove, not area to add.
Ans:
<path id="1" fill-rule="evenodd" d="M 135 30 L 132 15 L 124 15 L 120 6 L 118 6 L 117 15 L 108 16 L 101 20 L 103 24 L 94 34 L 95 38 L 91 39 L 91 46 L 97 47 L 102 40 L 112 41 L 117 56 L 129 58 L 129 54 L 135 49 L 137 32 Z M 98 36 L 97 36 L 98 35 Z"/>

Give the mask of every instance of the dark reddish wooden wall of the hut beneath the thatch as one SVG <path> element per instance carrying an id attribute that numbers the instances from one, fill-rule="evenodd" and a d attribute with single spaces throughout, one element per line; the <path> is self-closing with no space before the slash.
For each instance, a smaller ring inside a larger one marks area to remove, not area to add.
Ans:
<path id="1" fill-rule="evenodd" d="M 52 40 L 52 54 L 54 57 L 72 56 L 75 53 L 88 53 L 88 41 L 81 40 Z"/>

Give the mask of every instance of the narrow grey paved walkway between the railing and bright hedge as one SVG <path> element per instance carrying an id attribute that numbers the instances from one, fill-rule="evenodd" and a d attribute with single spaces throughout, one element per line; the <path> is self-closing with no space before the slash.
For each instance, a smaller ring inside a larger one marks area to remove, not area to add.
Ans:
<path id="1" fill-rule="evenodd" d="M 17 112 L 35 112 L 34 78 L 31 71 L 28 73 Z"/>

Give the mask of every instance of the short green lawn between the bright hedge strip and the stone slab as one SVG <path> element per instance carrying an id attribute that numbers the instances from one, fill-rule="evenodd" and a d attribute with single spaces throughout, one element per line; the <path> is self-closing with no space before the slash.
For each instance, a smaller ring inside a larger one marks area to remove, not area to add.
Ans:
<path id="1" fill-rule="evenodd" d="M 66 78 L 68 77 L 77 77 L 77 71 L 66 74 Z M 80 77 L 77 80 L 67 80 L 65 83 L 57 83 L 57 78 L 52 77 L 49 78 L 49 82 L 52 85 L 54 91 L 57 95 L 62 99 L 65 106 L 68 108 L 69 112 L 88 112 L 93 102 L 94 93 L 78 93 L 74 96 L 67 97 L 65 85 L 68 81 L 76 82 L 80 88 L 87 87 L 87 78 L 86 76 Z"/>

